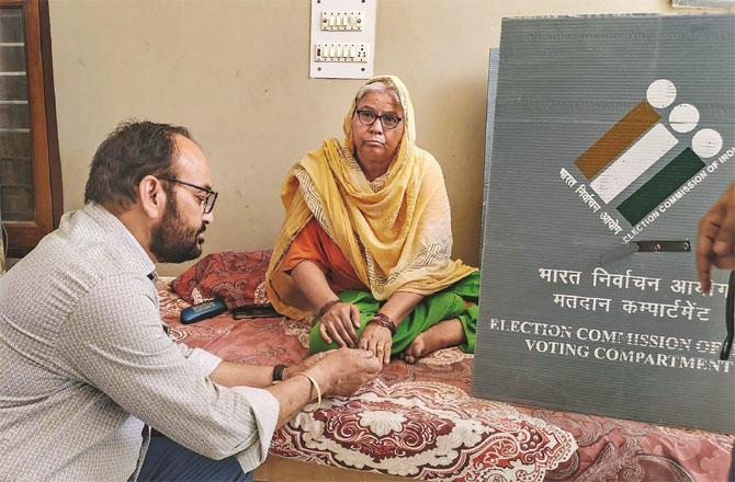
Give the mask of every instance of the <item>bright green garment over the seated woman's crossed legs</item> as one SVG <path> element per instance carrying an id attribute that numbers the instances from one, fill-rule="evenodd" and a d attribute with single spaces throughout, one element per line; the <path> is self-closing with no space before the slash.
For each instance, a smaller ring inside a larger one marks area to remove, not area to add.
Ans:
<path id="1" fill-rule="evenodd" d="M 340 300 L 352 303 L 360 310 L 360 329 L 358 336 L 362 336 L 368 322 L 377 313 L 385 301 L 377 301 L 370 291 L 349 289 L 337 295 Z M 467 338 L 460 348 L 466 353 L 475 353 L 477 333 L 477 299 L 479 298 L 479 272 L 460 279 L 449 288 L 434 292 L 421 300 L 414 311 L 404 319 L 393 335 L 391 354 L 402 353 L 411 344 L 419 333 L 429 330 L 434 324 L 456 318 L 462 323 Z M 472 305 L 467 306 L 467 302 Z M 319 334 L 321 320 L 312 329 L 309 351 L 312 353 L 326 352 L 339 348 L 337 343 L 327 343 Z"/>

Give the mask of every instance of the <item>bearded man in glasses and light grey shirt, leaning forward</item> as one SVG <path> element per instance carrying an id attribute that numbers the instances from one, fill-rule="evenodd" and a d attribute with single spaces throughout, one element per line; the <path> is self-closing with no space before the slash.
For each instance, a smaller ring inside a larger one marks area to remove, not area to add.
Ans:
<path id="1" fill-rule="evenodd" d="M 0 277 L 0 480 L 250 480 L 274 428 L 377 376 L 343 348 L 272 385 L 169 340 L 154 263 L 201 254 L 216 196 L 183 127 L 126 123 L 98 148 L 86 206 Z"/>

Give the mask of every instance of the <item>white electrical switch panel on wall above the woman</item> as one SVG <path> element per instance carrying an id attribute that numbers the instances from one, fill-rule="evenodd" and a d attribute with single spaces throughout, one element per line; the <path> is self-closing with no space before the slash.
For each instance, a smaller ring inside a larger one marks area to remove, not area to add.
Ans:
<path id="1" fill-rule="evenodd" d="M 312 0 L 312 79 L 369 79 L 377 0 Z"/>

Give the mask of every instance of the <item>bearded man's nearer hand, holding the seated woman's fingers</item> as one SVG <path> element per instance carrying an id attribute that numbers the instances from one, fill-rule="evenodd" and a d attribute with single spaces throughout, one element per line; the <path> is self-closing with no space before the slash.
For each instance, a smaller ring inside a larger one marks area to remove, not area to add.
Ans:
<path id="1" fill-rule="evenodd" d="M 346 397 L 354 393 L 365 381 L 375 379 L 382 369 L 383 365 L 371 352 L 339 348 L 327 352 L 309 372 L 318 374 L 324 393 Z"/>

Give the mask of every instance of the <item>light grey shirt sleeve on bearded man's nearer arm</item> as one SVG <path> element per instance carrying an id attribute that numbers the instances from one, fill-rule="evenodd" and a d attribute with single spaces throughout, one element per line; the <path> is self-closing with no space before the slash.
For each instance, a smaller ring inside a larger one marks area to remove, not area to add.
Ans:
<path id="1" fill-rule="evenodd" d="M 242 470 L 253 470 L 268 451 L 278 401 L 264 390 L 214 383 L 208 375 L 218 357 L 179 348 L 161 329 L 156 296 L 143 276 L 101 280 L 69 317 L 58 345 L 63 356 L 79 381 L 125 412 L 197 454 L 238 455 Z"/>

